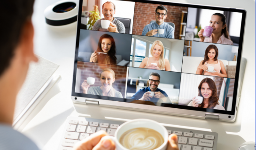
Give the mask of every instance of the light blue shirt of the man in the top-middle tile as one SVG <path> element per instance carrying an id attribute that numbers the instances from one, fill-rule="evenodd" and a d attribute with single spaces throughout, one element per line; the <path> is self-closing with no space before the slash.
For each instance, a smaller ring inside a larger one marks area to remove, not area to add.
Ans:
<path id="1" fill-rule="evenodd" d="M 163 22 L 161 25 L 158 25 L 156 22 L 147 24 L 142 31 L 142 36 L 146 36 L 148 31 L 154 29 L 164 29 L 164 33 L 156 33 L 154 36 L 151 37 L 174 38 L 174 28 L 170 24 L 165 22 Z"/>

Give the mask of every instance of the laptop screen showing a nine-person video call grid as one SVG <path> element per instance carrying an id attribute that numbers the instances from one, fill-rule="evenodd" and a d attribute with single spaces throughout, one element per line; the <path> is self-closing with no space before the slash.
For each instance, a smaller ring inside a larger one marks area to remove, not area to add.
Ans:
<path id="1" fill-rule="evenodd" d="M 72 96 L 234 114 L 244 22 L 235 8 L 80 0 Z"/>

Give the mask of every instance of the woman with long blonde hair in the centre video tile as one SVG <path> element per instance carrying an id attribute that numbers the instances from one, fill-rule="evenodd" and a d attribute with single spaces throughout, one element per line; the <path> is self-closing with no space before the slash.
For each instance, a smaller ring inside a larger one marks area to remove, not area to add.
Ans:
<path id="1" fill-rule="evenodd" d="M 152 57 L 146 57 L 140 63 L 141 68 L 171 71 L 170 62 L 164 59 L 164 48 L 161 41 L 155 41 L 150 49 Z"/>

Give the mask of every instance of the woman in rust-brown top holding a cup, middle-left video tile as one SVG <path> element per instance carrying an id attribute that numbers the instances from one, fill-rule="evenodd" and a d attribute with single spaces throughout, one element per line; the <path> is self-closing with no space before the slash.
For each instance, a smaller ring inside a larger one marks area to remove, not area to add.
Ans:
<path id="1" fill-rule="evenodd" d="M 112 36 L 103 34 L 100 37 L 97 51 L 92 53 L 90 62 L 116 65 L 116 43 Z"/>

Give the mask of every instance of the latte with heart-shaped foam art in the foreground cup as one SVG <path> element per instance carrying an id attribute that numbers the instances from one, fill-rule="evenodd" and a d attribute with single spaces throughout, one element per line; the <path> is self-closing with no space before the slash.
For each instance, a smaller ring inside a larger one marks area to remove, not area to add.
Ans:
<path id="1" fill-rule="evenodd" d="M 163 142 L 163 136 L 150 128 L 133 128 L 124 132 L 119 139 L 119 143 L 129 150 L 155 150 Z"/>

